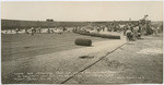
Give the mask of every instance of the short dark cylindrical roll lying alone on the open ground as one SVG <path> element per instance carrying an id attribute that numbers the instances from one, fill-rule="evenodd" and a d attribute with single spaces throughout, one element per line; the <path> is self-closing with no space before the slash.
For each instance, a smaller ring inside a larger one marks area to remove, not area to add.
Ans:
<path id="1" fill-rule="evenodd" d="M 92 40 L 91 39 L 81 39 L 78 38 L 74 40 L 74 44 L 78 46 L 91 46 L 92 45 Z"/>

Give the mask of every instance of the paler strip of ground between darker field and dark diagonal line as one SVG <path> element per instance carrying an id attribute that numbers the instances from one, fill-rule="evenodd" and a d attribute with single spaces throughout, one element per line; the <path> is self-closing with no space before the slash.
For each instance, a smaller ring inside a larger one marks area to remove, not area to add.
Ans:
<path id="1" fill-rule="evenodd" d="M 4 59 L 2 61 L 2 83 L 59 84 L 99 60 L 99 58 L 107 56 L 108 52 L 125 42 L 125 38 L 106 39 L 94 41 L 92 47 L 73 48 L 44 54 L 34 54 L 32 57 L 15 57 L 9 60 Z M 24 47 L 23 45 L 21 46 Z"/>

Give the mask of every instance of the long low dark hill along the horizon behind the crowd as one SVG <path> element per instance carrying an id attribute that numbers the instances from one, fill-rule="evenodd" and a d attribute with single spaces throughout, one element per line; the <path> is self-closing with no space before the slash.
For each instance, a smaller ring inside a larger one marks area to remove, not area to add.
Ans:
<path id="1" fill-rule="evenodd" d="M 115 21 L 115 23 L 130 23 L 138 21 Z M 94 26 L 107 25 L 114 23 L 114 21 L 99 21 L 92 22 Z M 13 29 L 13 28 L 31 28 L 31 27 L 77 27 L 86 26 L 91 22 L 56 22 L 56 21 L 23 21 L 23 20 L 1 20 L 1 29 Z"/>

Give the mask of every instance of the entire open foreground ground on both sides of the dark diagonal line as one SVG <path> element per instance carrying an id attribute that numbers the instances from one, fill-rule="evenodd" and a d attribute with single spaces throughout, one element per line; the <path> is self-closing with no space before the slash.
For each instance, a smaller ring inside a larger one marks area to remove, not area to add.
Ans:
<path id="1" fill-rule="evenodd" d="M 82 37 L 92 39 L 93 47 L 75 46 Z M 125 42 L 71 33 L 2 35 L 2 83 L 162 83 L 162 37 Z"/>

